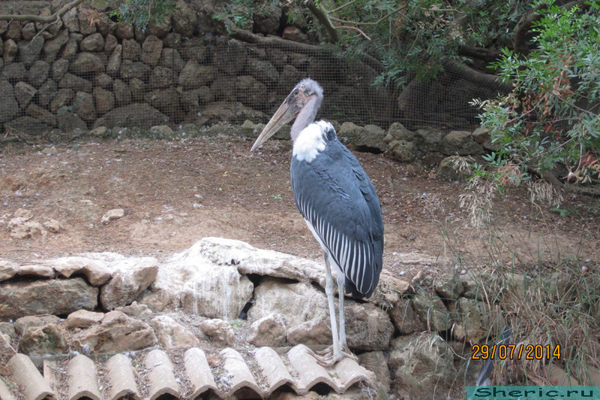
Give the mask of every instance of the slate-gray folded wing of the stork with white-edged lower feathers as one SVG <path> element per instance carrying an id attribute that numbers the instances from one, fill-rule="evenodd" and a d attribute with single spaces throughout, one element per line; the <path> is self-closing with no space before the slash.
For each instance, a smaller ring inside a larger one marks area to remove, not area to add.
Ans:
<path id="1" fill-rule="evenodd" d="M 366 172 L 337 137 L 310 163 L 294 157 L 290 169 L 296 206 L 344 272 L 346 292 L 369 297 L 383 265 L 383 219 Z"/>

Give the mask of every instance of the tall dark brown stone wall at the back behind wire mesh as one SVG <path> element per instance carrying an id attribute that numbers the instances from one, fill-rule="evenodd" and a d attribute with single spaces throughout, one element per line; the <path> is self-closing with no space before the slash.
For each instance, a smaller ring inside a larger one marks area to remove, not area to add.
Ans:
<path id="1" fill-rule="evenodd" d="M 48 2 L 0 5 L 1 12 L 49 15 Z M 52 3 L 58 7 L 59 3 Z M 275 32 L 268 21 L 262 30 Z M 321 81 L 341 121 L 382 119 L 385 92 L 373 71 L 323 54 L 283 52 L 222 36 L 197 2 L 143 31 L 108 13 L 74 8 L 61 21 L 0 21 L 0 123 L 25 134 L 97 126 L 241 123 L 268 115 L 303 77 Z M 340 112 L 344 110 L 344 112 Z M 334 112 L 335 114 L 334 114 Z"/>

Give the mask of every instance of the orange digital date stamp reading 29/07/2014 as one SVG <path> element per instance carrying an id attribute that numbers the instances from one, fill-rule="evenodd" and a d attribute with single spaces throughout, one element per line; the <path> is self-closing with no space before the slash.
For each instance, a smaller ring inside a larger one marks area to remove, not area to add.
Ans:
<path id="1" fill-rule="evenodd" d="M 532 344 L 475 344 L 472 347 L 474 360 L 545 360 L 560 359 L 561 346 Z"/>

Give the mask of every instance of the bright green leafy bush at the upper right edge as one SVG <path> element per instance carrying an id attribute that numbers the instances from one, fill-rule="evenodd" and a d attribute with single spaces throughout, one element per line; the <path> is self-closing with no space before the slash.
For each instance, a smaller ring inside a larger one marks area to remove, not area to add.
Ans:
<path id="1" fill-rule="evenodd" d="M 514 90 L 478 104 L 501 157 L 537 170 L 566 168 L 567 181 L 600 180 L 598 4 L 582 10 L 537 1 L 536 50 L 524 58 L 505 48 L 494 63 Z"/>

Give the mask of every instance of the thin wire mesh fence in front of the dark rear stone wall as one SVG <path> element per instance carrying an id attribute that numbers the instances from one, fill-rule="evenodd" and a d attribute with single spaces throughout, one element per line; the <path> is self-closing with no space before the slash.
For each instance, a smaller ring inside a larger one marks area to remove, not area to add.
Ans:
<path id="1" fill-rule="evenodd" d="M 469 101 L 503 92 L 499 83 L 473 79 L 461 68 L 403 90 L 374 86 L 378 72 L 369 63 L 325 49 L 285 51 L 212 33 L 185 37 L 172 28 L 141 32 L 108 19 L 90 24 L 72 11 L 54 29 L 0 22 L 6 132 L 264 123 L 304 77 L 323 86 L 324 119 L 467 130 L 479 123 Z"/>

